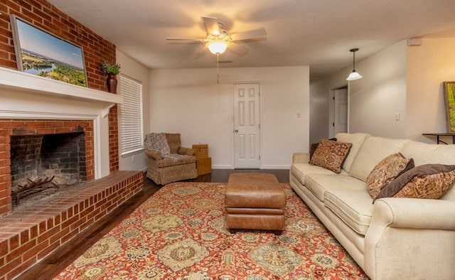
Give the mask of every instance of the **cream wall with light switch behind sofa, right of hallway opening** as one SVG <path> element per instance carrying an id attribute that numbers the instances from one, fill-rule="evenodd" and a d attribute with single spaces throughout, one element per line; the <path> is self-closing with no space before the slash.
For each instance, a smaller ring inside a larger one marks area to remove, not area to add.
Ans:
<path id="1" fill-rule="evenodd" d="M 406 48 L 402 41 L 355 64 L 363 78 L 349 82 L 351 133 L 405 138 Z"/>

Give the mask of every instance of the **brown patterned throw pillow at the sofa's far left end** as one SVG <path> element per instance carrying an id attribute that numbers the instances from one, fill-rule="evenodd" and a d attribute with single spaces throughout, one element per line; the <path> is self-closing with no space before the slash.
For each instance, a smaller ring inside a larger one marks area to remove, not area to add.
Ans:
<path id="1" fill-rule="evenodd" d="M 350 143 L 322 139 L 309 163 L 312 166 L 321 166 L 340 173 L 343 161 L 349 154 L 350 146 L 352 146 Z"/>

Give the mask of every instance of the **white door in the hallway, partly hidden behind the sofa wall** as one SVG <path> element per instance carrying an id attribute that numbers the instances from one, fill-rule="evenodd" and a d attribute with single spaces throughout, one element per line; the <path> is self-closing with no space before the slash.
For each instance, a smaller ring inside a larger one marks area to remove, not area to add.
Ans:
<path id="1" fill-rule="evenodd" d="M 333 91 L 333 136 L 348 132 L 348 87 Z"/>

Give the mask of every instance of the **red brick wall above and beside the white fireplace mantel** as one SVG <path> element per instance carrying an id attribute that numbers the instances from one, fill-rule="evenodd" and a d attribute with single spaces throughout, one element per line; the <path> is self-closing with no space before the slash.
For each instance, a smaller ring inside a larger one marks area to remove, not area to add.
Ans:
<path id="1" fill-rule="evenodd" d="M 44 0 L 1 0 L 0 13 L 0 66 L 17 69 L 9 22 L 9 15 L 15 14 L 33 26 L 81 47 L 84 52 L 88 87 L 107 92 L 106 77 L 100 70 L 100 64 L 104 61 L 111 63 L 116 61 L 114 44 Z M 119 169 L 118 134 L 117 107 L 114 107 L 109 112 L 110 171 Z"/>

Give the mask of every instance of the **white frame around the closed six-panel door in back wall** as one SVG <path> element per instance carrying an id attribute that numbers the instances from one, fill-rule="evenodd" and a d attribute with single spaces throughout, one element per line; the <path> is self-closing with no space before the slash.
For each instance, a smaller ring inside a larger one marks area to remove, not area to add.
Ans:
<path id="1" fill-rule="evenodd" d="M 235 85 L 241 85 L 241 84 L 257 84 L 259 85 L 259 169 L 262 169 L 262 147 L 263 145 L 263 139 L 264 135 L 264 124 L 262 123 L 262 84 L 258 80 L 247 80 L 247 81 L 236 81 L 232 82 L 231 84 L 231 94 L 230 94 L 230 99 L 231 99 L 231 104 L 232 104 L 232 119 L 231 119 L 231 139 L 232 139 L 232 169 L 235 169 L 235 101 L 234 101 L 234 87 Z M 241 169 L 241 168 L 240 168 Z"/>

